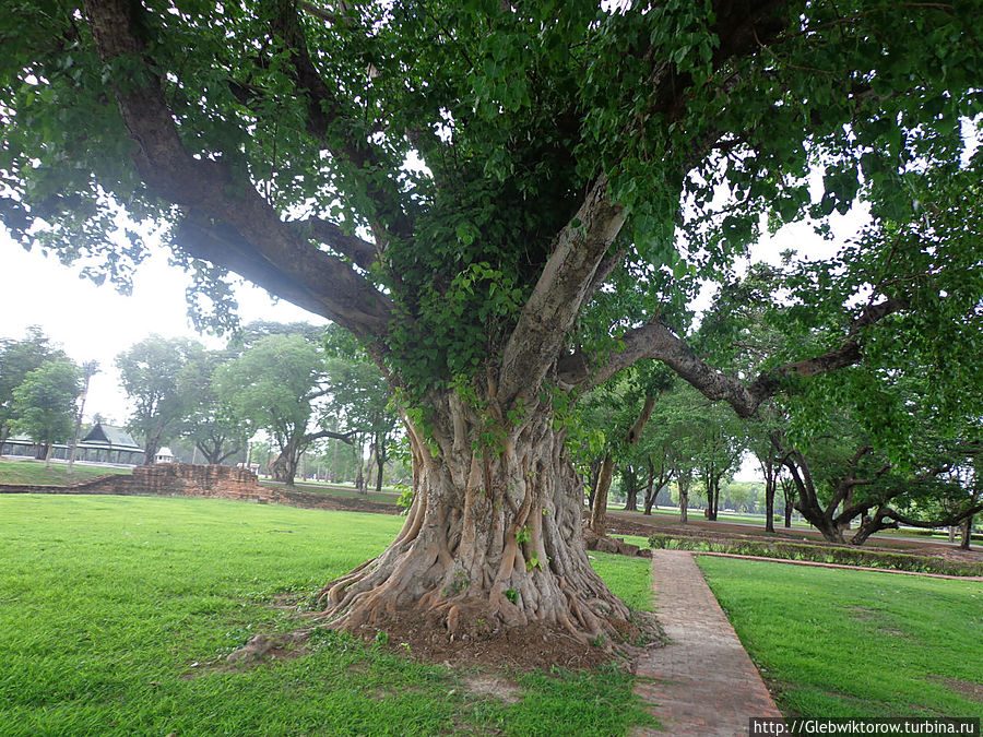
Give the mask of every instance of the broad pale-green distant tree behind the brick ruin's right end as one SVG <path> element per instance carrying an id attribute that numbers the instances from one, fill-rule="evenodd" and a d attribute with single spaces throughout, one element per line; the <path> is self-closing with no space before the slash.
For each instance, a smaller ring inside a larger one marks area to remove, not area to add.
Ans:
<path id="1" fill-rule="evenodd" d="M 276 333 L 260 337 L 213 375 L 220 401 L 270 435 L 279 451 L 270 473 L 287 486 L 294 485 L 301 453 L 316 440 L 350 440 L 348 433 L 319 424 L 327 417 L 313 403 L 329 393 L 325 361 L 321 347 L 304 335 Z"/>

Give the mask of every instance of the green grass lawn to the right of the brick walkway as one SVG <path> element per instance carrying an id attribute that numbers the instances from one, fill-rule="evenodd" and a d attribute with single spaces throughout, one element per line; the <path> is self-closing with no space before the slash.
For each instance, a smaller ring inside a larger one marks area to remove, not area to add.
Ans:
<path id="1" fill-rule="evenodd" d="M 697 561 L 785 715 L 983 716 L 983 582 Z"/>

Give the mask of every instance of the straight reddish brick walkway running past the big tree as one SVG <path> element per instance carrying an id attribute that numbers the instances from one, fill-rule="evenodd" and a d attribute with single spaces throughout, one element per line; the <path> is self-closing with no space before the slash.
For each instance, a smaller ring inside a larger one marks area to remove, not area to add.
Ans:
<path id="1" fill-rule="evenodd" d="M 638 736 L 736 737 L 751 716 L 780 717 L 734 628 L 710 592 L 692 555 L 652 551 L 655 611 L 668 644 L 638 664 L 636 692 L 666 732 Z"/>

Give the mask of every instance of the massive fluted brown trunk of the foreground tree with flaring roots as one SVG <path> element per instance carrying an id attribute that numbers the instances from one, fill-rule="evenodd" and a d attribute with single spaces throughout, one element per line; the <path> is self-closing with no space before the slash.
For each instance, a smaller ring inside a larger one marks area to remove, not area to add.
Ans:
<path id="1" fill-rule="evenodd" d="M 321 591 L 331 627 L 445 644 L 526 626 L 595 644 L 633 630 L 588 562 L 583 488 L 552 416 L 530 411 L 482 451 L 487 418 L 457 394 L 430 406 L 429 442 L 407 423 L 406 522 L 382 555 Z"/>

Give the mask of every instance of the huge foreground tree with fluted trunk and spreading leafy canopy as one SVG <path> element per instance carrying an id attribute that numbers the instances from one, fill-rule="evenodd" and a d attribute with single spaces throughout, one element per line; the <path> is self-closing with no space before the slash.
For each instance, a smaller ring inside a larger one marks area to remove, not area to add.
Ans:
<path id="1" fill-rule="evenodd" d="M 581 546 L 564 407 L 654 358 L 749 415 L 900 312 L 931 322 L 916 280 L 860 274 L 817 293 L 818 353 L 742 379 L 680 316 L 762 215 L 911 212 L 907 180 L 958 165 L 980 109 L 981 24 L 896 0 L 21 0 L 0 10 L 0 213 L 126 280 L 125 207 L 169 225 L 220 318 L 228 270 L 365 341 L 417 494 L 325 586 L 335 626 L 587 643 L 629 615 Z"/>

